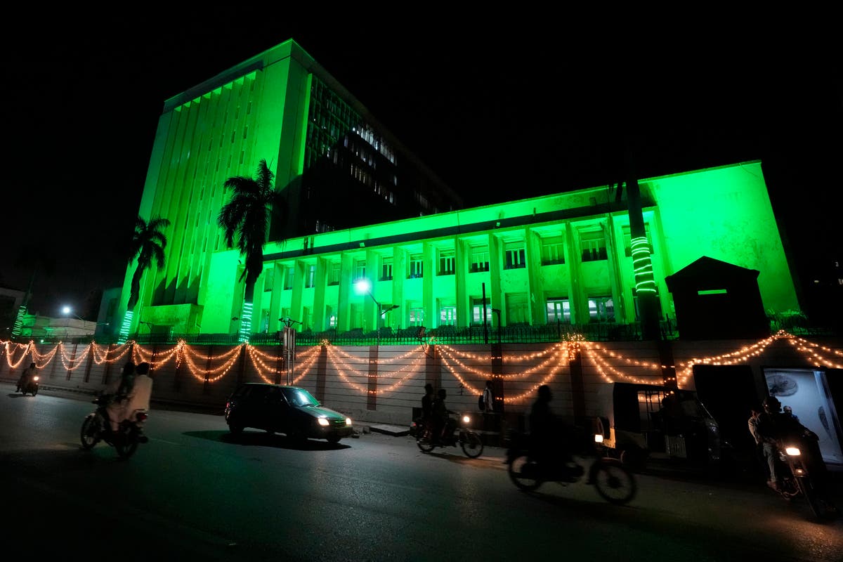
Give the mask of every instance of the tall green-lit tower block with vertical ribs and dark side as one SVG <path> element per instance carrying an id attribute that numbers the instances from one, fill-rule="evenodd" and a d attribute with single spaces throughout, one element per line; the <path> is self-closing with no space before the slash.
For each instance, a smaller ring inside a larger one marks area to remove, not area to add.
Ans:
<path id="1" fill-rule="evenodd" d="M 207 270 L 224 249 L 226 179 L 265 159 L 285 196 L 278 240 L 459 209 L 459 195 L 293 40 L 166 100 L 139 214 L 171 225 L 166 266 L 149 270 L 133 324 L 201 325 Z M 121 306 L 126 308 L 130 267 Z M 141 318 L 152 313 L 154 318 Z M 163 324 L 152 324 L 164 317 Z"/>

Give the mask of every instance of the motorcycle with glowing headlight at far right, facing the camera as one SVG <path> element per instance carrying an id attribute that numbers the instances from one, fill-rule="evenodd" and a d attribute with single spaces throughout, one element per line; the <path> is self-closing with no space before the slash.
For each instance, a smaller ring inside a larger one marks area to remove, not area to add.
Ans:
<path id="1" fill-rule="evenodd" d="M 777 442 L 777 461 L 782 470 L 777 474 L 783 474 L 776 490 L 785 500 L 802 495 L 811 508 L 813 517 L 818 519 L 835 517 L 838 514 L 837 508 L 830 502 L 825 494 L 817 489 L 811 471 L 807 455 L 809 452 L 805 443 Z M 814 452 L 813 454 L 817 454 Z"/>

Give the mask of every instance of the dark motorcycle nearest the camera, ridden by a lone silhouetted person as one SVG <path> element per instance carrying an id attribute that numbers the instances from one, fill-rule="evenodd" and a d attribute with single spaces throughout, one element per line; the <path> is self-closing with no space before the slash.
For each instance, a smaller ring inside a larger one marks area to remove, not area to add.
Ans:
<path id="1" fill-rule="evenodd" d="M 600 442 L 599 434 L 595 441 Z M 509 436 L 507 447 L 507 473 L 519 490 L 533 491 L 545 482 L 558 482 L 563 486 L 574 484 L 588 475 L 585 484 L 593 485 L 604 500 L 611 504 L 629 503 L 637 491 L 636 479 L 620 460 L 608 456 L 599 456 L 593 449 L 594 457 L 588 472 L 579 463 L 539 462 L 530 452 L 529 434 L 513 432 Z M 586 456 L 584 453 L 582 456 Z"/>

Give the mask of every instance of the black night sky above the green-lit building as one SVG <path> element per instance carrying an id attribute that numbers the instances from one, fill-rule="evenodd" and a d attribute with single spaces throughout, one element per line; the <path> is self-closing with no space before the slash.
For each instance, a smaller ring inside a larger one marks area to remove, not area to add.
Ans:
<path id="1" fill-rule="evenodd" d="M 640 178 L 761 160 L 803 281 L 843 257 L 843 78 L 822 34 L 224 12 L 33 13 L 3 36 L 0 285 L 35 272 L 32 311 L 121 284 L 164 100 L 290 38 L 466 206 L 614 182 L 630 140 Z"/>

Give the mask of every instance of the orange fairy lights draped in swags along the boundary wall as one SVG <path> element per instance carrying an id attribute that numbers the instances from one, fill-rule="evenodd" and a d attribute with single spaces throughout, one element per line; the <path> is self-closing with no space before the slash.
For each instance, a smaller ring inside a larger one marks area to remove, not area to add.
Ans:
<path id="1" fill-rule="evenodd" d="M 586 341 L 581 335 L 573 335 L 561 342 L 549 345 L 545 349 L 532 351 L 522 355 L 502 356 L 502 364 L 506 372 L 492 372 L 471 364 L 489 361 L 488 355 L 471 351 L 462 351 L 451 345 L 438 344 L 435 338 L 413 347 L 395 356 L 371 359 L 368 356 L 354 356 L 336 345 L 330 345 L 325 340 L 321 345 L 314 345 L 305 351 L 297 353 L 291 370 L 292 384 L 298 384 L 304 377 L 314 371 L 314 364 L 319 359 L 319 351 L 325 348 L 325 356 L 331 367 L 336 371 L 341 381 L 359 393 L 384 395 L 393 393 L 416 375 L 424 372 L 424 366 L 429 351 L 433 345 L 437 346 L 438 356 L 443 367 L 459 382 L 461 388 L 471 394 L 480 394 L 482 384 L 472 383 L 466 375 L 477 377 L 485 383 L 487 379 L 498 379 L 518 383 L 528 383 L 529 387 L 518 394 L 508 395 L 507 403 L 519 403 L 534 396 L 535 391 L 542 384 L 550 383 L 554 378 L 561 377 L 571 361 L 580 357 L 583 361 L 590 360 L 596 372 L 608 383 L 624 381 L 630 383 L 661 384 L 663 372 L 667 367 L 675 368 L 678 373 L 678 385 L 684 387 L 690 380 L 695 365 L 737 365 L 745 363 L 762 355 L 767 348 L 777 340 L 786 340 L 794 350 L 800 353 L 807 364 L 812 367 L 843 368 L 843 351 L 831 349 L 824 345 L 815 344 L 804 338 L 789 334 L 785 330 L 776 332 L 768 338 L 758 340 L 752 345 L 745 345 L 735 351 L 719 356 L 693 357 L 688 361 L 679 361 L 675 366 L 664 366 L 651 361 L 640 361 L 626 357 L 617 351 L 607 349 L 604 345 Z M 274 348 L 279 352 L 281 347 Z M 146 361 L 154 368 L 160 368 L 169 361 L 175 361 L 175 367 L 182 369 L 204 383 L 216 383 L 226 377 L 239 360 L 241 352 L 250 361 L 261 380 L 273 383 L 285 369 L 283 356 L 261 350 L 248 342 L 235 345 L 228 351 L 217 355 L 204 354 L 197 346 L 188 345 L 180 340 L 167 350 L 148 349 L 131 340 L 120 345 L 99 345 L 91 342 L 81 351 L 77 346 L 69 349 L 62 342 L 56 344 L 50 351 L 40 352 L 34 341 L 22 344 L 13 341 L 0 340 L 0 350 L 3 351 L 6 364 L 17 369 L 30 356 L 35 367 L 43 369 L 58 358 L 62 368 L 68 372 L 93 361 L 96 365 L 115 364 L 125 361 L 140 363 Z M 535 362 L 539 361 L 539 362 Z M 374 368 L 372 368 L 374 365 Z M 383 375 L 379 374 L 380 365 L 400 366 Z M 636 373 L 622 371 L 622 367 L 630 367 Z M 651 377 L 642 376 L 641 372 L 652 373 Z M 370 379 L 379 379 L 379 383 L 370 385 Z M 539 380 L 535 380 L 538 377 Z M 380 381 L 383 382 L 380 382 Z M 384 384 L 389 381 L 389 384 Z"/>

